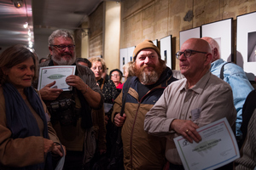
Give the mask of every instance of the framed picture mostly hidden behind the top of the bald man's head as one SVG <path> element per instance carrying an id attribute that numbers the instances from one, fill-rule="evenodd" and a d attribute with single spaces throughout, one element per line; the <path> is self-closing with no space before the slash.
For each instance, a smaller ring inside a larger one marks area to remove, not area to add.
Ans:
<path id="1" fill-rule="evenodd" d="M 187 41 L 189 38 L 196 37 L 201 38 L 201 26 L 195 27 L 189 30 L 179 32 L 179 48 L 183 45 L 183 42 Z"/>

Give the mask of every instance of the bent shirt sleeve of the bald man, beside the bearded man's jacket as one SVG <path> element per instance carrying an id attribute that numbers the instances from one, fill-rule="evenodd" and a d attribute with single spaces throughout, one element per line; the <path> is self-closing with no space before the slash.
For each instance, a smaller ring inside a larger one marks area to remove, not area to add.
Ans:
<path id="1" fill-rule="evenodd" d="M 172 97 L 170 96 L 170 87 L 166 88 L 160 99 L 148 111 L 144 120 L 144 130 L 154 136 L 164 137 L 174 131 L 170 131 L 170 125 L 173 118 L 166 117 L 168 102 Z"/>

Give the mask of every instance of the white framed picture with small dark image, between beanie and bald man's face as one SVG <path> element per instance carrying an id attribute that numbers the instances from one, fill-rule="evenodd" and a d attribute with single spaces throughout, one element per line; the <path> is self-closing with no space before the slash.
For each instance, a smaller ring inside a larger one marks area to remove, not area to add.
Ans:
<path id="1" fill-rule="evenodd" d="M 160 39 L 161 59 L 172 69 L 172 35 Z"/>

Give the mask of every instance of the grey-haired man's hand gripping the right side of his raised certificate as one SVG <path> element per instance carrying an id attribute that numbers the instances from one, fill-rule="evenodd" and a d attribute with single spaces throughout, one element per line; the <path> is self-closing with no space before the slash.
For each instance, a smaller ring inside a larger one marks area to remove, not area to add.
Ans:
<path id="1" fill-rule="evenodd" d="M 78 76 L 70 75 L 66 78 L 66 82 L 68 86 L 73 86 L 77 88 L 79 91 L 81 91 L 82 93 L 84 93 L 84 91 L 86 90 L 85 82 Z"/>

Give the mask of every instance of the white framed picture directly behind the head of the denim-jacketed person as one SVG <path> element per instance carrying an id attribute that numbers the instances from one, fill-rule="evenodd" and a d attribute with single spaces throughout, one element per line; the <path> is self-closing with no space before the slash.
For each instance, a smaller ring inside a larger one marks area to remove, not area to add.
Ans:
<path id="1" fill-rule="evenodd" d="M 225 61 L 232 59 L 232 21 L 220 20 L 201 26 L 201 37 L 212 37 L 218 42 L 220 57 Z"/>

